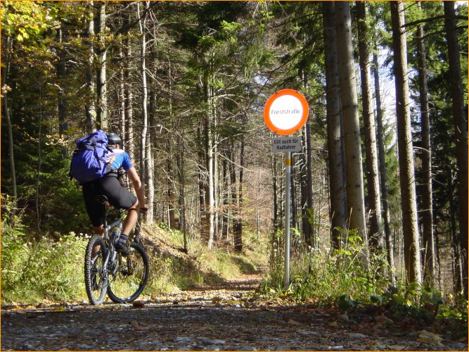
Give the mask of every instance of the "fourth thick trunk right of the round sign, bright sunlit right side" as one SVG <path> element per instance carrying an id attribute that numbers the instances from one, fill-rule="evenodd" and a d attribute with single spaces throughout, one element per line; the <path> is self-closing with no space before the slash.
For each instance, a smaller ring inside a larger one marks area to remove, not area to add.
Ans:
<path id="1" fill-rule="evenodd" d="M 413 165 L 409 80 L 407 74 L 407 43 L 404 25 L 404 4 L 392 1 L 392 43 L 394 45 L 394 79 L 396 86 L 397 145 L 399 148 L 399 179 L 401 185 L 402 230 L 407 282 L 422 282 L 420 268 L 420 236 Z"/>

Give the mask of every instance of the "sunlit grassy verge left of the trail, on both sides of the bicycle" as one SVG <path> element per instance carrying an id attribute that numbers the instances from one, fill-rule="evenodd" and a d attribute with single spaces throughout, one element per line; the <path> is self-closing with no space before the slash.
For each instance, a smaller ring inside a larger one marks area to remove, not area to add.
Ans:
<path id="1" fill-rule="evenodd" d="M 25 232 L 18 223 L 2 226 L 2 306 L 87 301 L 83 280 L 87 238 L 67 234 L 56 240 L 32 241 Z M 188 253 L 184 253 L 182 234 L 158 225 L 146 227 L 143 237 L 150 258 L 143 298 L 221 284 L 266 263 L 262 244 L 248 236 L 242 254 L 229 251 L 229 246 L 208 250 L 198 239 L 191 239 Z"/>

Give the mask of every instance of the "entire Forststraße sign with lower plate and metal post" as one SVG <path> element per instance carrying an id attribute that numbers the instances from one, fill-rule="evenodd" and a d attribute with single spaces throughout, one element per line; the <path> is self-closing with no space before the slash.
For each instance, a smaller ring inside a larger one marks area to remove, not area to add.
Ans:
<path id="1" fill-rule="evenodd" d="M 273 94 L 264 106 L 264 122 L 269 130 L 288 136 L 300 130 L 308 118 L 308 102 L 293 89 L 282 89 Z M 287 153 L 285 158 L 285 265 L 283 287 L 290 285 L 290 192 L 292 151 L 301 151 L 301 139 L 298 137 L 273 138 L 273 153 Z"/>

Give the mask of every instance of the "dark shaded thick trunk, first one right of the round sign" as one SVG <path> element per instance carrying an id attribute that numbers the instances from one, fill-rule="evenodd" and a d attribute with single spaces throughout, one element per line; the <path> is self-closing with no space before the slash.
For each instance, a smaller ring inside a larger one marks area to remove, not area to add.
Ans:
<path id="1" fill-rule="evenodd" d="M 330 236 L 333 248 L 340 249 L 340 229 L 347 227 L 347 201 L 334 4 L 334 1 L 323 1 L 323 27 L 324 54 L 326 55 Z"/>

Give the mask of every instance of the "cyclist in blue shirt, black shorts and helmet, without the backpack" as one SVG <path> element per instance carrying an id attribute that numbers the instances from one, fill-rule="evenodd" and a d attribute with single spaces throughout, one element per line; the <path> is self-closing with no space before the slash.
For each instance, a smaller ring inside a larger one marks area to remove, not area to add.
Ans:
<path id="1" fill-rule="evenodd" d="M 122 145 L 122 139 L 115 133 L 107 133 L 106 136 L 108 137 L 108 149 L 110 149 L 110 153 L 105 156 L 108 161 L 106 169 L 109 172 L 96 181 L 83 184 L 83 198 L 93 230 L 101 236 L 103 236 L 104 213 L 103 205 L 96 201 L 96 196 L 104 195 L 108 198 L 111 206 L 127 209 L 127 216 L 124 219 L 122 232 L 115 243 L 115 248 L 124 255 L 129 255 L 131 252 L 127 246 L 128 234 L 136 225 L 139 211 L 145 213 L 147 210 L 145 195 L 140 177 L 131 163 L 129 154 L 119 149 Z M 136 196 L 120 184 L 117 178 L 120 169 L 124 169 L 129 176 L 134 185 Z"/>

